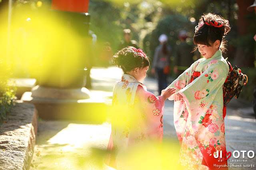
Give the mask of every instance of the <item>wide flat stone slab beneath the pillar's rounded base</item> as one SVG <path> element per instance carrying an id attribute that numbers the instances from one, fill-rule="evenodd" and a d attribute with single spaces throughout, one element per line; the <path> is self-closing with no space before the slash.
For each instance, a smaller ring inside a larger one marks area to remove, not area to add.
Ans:
<path id="1" fill-rule="evenodd" d="M 22 100 L 33 103 L 39 117 L 46 120 L 74 120 L 87 123 L 106 121 L 107 105 L 104 99 L 47 99 L 31 97 L 32 92 L 25 92 Z"/>

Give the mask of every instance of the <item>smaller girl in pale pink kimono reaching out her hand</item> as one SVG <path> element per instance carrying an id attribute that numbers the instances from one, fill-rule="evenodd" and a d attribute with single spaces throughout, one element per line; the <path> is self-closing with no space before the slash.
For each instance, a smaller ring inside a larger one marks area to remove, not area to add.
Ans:
<path id="1" fill-rule="evenodd" d="M 146 77 L 149 60 L 141 49 L 126 47 L 114 55 L 114 64 L 124 71 L 122 80 L 114 86 L 112 133 L 106 164 L 126 169 L 126 152 L 136 144 L 162 141 L 164 101 L 175 93 L 167 89 L 156 97 L 141 82 Z"/>

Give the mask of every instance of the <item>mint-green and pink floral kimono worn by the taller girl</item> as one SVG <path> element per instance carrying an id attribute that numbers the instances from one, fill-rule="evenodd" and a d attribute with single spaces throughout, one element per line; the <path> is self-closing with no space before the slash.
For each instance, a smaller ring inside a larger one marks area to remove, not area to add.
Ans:
<path id="1" fill-rule="evenodd" d="M 193 71 L 201 73 L 194 80 Z M 217 150 L 226 150 L 222 85 L 227 75 L 228 64 L 219 50 L 194 62 L 167 87 L 175 87 L 183 96 L 174 102 L 174 125 L 185 169 L 215 169 L 216 164 L 227 169 L 224 156 L 214 158 Z"/>

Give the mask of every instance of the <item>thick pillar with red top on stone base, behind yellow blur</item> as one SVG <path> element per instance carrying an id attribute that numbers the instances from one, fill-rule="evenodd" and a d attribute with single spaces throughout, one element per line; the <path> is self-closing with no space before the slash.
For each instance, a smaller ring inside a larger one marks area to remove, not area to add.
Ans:
<path id="1" fill-rule="evenodd" d="M 43 58 L 41 69 L 47 71 L 42 72 L 32 93 L 22 97 L 22 100 L 34 103 L 42 119 L 97 123 L 106 119 L 104 101 L 92 101 L 90 91 L 83 83 L 91 44 L 88 6 L 89 0 L 52 0 L 50 12 L 58 17 L 61 27 L 53 28 L 49 33 L 55 44 L 49 47 L 53 52 Z"/>

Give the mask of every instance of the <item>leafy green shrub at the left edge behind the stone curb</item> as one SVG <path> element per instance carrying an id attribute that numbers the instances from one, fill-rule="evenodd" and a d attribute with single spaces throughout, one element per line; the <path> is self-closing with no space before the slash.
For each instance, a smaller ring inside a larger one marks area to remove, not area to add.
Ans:
<path id="1" fill-rule="evenodd" d="M 6 113 L 15 105 L 15 91 L 10 82 L 10 64 L 0 59 L 0 125 L 6 120 Z"/>

